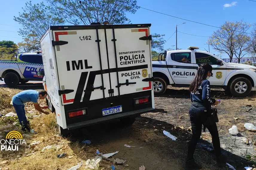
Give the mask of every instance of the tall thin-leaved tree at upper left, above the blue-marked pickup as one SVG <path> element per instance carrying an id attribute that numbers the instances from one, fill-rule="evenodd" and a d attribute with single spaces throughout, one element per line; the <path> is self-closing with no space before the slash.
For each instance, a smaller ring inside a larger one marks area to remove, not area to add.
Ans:
<path id="1" fill-rule="evenodd" d="M 33 37 L 39 40 L 50 25 L 60 25 L 65 22 L 63 18 L 54 14 L 52 7 L 45 6 L 43 2 L 40 4 L 32 4 L 31 1 L 26 2 L 22 11 L 23 13 L 19 13 L 19 17 L 14 16 L 14 21 L 22 26 L 19 30 L 19 35 L 22 37 L 34 35 Z"/>

